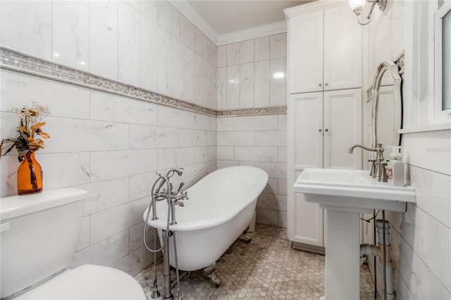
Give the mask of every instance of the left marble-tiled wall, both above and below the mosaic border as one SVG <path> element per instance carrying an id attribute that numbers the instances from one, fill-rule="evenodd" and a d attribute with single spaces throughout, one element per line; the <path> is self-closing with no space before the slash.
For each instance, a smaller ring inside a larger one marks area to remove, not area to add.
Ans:
<path id="1" fill-rule="evenodd" d="M 0 1 L 0 43 L 199 106 L 216 108 L 216 49 L 167 1 Z M 89 191 L 73 266 L 135 275 L 153 257 L 142 213 L 156 171 L 187 184 L 216 170 L 216 118 L 1 69 L 1 138 L 13 107 L 49 106 L 37 152 L 44 189 Z M 16 152 L 1 158 L 1 196 L 16 194 Z M 178 184 L 175 180 L 174 184 Z"/>

